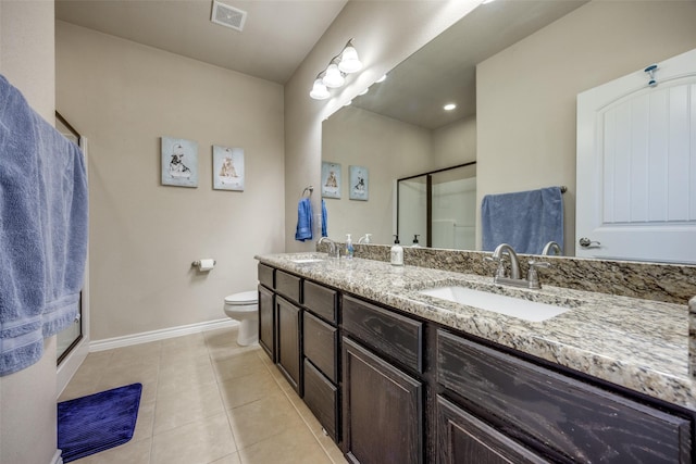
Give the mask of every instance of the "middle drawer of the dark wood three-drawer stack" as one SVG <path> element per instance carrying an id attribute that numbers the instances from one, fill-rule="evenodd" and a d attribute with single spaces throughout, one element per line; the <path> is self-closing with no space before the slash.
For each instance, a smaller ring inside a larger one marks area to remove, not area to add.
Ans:
<path id="1" fill-rule="evenodd" d="M 338 329 L 310 313 L 306 312 L 303 317 L 304 356 L 309 358 L 335 384 L 338 379 L 336 365 Z"/>

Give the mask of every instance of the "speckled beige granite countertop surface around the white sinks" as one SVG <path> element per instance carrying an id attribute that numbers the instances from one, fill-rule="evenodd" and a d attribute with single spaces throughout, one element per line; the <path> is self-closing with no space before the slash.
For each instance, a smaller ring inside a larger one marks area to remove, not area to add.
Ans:
<path id="1" fill-rule="evenodd" d="M 296 263 L 316 258 L 321 261 Z M 400 309 L 444 326 L 696 411 L 688 375 L 688 308 L 637 298 L 542 286 L 493 285 L 493 277 L 381 261 L 327 259 L 325 253 L 256 256 L 262 263 Z M 570 308 L 527 322 L 427 297 L 420 290 L 459 285 Z"/>

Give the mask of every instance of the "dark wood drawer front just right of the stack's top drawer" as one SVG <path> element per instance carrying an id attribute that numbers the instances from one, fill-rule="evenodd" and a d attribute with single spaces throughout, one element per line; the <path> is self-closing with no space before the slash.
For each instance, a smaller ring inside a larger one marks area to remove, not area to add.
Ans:
<path id="1" fill-rule="evenodd" d="M 373 349 L 423 372 L 423 324 L 351 297 L 343 299 L 343 327 Z"/>

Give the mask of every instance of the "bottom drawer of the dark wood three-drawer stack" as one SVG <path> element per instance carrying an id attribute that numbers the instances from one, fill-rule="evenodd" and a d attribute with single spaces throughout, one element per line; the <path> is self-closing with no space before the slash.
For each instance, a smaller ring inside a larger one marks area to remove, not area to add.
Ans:
<path id="1" fill-rule="evenodd" d="M 304 360 L 303 400 L 328 436 L 338 442 L 338 390 L 308 360 Z"/>

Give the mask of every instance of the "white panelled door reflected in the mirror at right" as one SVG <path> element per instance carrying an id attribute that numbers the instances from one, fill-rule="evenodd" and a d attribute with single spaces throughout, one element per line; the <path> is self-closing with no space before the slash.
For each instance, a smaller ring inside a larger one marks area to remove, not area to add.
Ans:
<path id="1" fill-rule="evenodd" d="M 696 263 L 696 50 L 577 96 L 576 188 L 577 256 Z"/>

